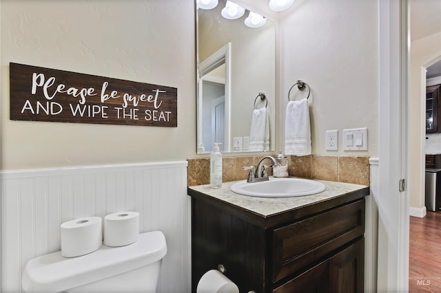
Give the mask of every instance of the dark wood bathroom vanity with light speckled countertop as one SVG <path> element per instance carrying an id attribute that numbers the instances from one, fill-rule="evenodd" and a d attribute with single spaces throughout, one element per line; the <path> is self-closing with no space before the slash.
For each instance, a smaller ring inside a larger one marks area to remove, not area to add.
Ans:
<path id="1" fill-rule="evenodd" d="M 278 198 L 190 186 L 192 292 L 220 264 L 245 293 L 363 292 L 369 187 L 321 182 L 322 193 Z"/>

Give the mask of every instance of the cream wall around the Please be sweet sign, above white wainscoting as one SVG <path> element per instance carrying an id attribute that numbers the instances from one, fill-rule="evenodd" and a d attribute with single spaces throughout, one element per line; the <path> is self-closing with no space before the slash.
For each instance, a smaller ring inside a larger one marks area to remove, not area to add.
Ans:
<path id="1" fill-rule="evenodd" d="M 191 0 L 1 0 L 0 169 L 192 157 L 194 50 Z M 176 87 L 178 127 L 11 121 L 10 62 Z"/>

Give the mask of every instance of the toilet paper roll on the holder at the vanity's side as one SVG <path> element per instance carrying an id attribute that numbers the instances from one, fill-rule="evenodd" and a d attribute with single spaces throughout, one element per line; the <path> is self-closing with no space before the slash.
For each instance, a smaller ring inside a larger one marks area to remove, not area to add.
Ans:
<path id="1" fill-rule="evenodd" d="M 239 293 L 239 288 L 218 270 L 203 274 L 196 287 L 196 293 Z"/>

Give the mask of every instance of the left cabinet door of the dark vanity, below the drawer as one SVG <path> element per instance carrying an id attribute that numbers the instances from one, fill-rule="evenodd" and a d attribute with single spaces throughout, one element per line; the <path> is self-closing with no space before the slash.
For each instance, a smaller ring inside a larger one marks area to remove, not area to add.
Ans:
<path id="1" fill-rule="evenodd" d="M 273 293 L 323 293 L 329 291 L 329 259 L 319 263 L 296 278 L 276 287 Z"/>

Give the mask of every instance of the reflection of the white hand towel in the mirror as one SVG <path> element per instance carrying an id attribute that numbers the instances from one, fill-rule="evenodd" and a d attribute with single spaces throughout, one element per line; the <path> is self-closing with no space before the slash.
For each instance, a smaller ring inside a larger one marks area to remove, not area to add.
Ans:
<path id="1" fill-rule="evenodd" d="M 253 111 L 249 151 L 269 151 L 269 119 L 265 107 Z"/>

